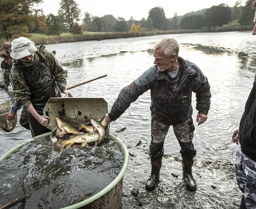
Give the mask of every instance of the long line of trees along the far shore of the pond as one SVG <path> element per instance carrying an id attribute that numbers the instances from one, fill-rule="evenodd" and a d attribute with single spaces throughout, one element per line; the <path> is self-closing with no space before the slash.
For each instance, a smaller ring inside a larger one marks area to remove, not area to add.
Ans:
<path id="1" fill-rule="evenodd" d="M 254 10 L 253 0 L 247 0 L 245 6 L 237 1 L 233 7 L 226 4 L 212 6 L 197 12 L 166 18 L 162 7 L 154 7 L 148 12 L 147 19 L 126 21 L 106 14 L 103 17 L 93 16 L 88 12 L 81 14 L 78 3 L 74 0 L 61 0 L 58 15 L 45 16 L 42 9 L 37 9 L 43 0 L 1 0 L 0 1 L 0 37 L 11 40 L 14 37 L 26 36 L 27 33 L 59 35 L 63 32 L 82 34 L 93 32 L 138 32 L 154 30 L 202 29 L 214 31 L 228 24 L 235 24 L 239 29 L 252 27 Z"/>

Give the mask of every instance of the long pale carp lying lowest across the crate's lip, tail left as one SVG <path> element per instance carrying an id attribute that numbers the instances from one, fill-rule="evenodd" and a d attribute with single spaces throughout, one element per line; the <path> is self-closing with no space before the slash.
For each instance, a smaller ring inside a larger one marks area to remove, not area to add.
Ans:
<path id="1" fill-rule="evenodd" d="M 81 146 L 84 147 L 87 143 L 98 141 L 99 138 L 100 137 L 98 132 L 81 133 L 70 138 L 69 140 L 59 140 L 58 143 L 55 144 L 55 146 L 63 149 L 67 144 L 72 145 L 73 143 L 81 143 Z"/>

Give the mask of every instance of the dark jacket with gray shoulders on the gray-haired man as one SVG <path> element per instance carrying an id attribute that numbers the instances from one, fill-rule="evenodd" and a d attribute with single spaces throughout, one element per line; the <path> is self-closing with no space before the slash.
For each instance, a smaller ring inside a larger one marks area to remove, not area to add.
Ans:
<path id="1" fill-rule="evenodd" d="M 151 117 L 161 123 L 175 125 L 192 116 L 191 96 L 196 94 L 198 113 L 208 114 L 210 108 L 210 86 L 207 77 L 194 63 L 178 58 L 182 73 L 179 88 L 173 94 L 166 72 L 160 72 L 154 65 L 119 93 L 111 112 L 111 120 L 119 118 L 132 102 L 144 92 L 151 90 Z"/>

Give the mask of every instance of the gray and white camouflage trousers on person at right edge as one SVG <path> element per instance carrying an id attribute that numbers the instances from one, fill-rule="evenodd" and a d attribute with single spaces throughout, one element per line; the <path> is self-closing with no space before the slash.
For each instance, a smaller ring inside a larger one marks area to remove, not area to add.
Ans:
<path id="1" fill-rule="evenodd" d="M 256 163 L 244 155 L 241 148 L 236 153 L 236 181 L 243 192 L 247 209 L 256 208 Z"/>

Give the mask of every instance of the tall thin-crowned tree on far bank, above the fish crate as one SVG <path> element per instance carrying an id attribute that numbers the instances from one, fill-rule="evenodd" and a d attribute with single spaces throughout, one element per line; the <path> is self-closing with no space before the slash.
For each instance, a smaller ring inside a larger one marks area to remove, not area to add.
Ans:
<path id="1" fill-rule="evenodd" d="M 79 21 L 80 12 L 78 3 L 74 0 L 61 0 L 58 15 L 62 23 L 67 24 L 69 29 Z"/>

